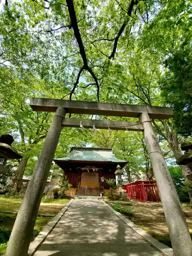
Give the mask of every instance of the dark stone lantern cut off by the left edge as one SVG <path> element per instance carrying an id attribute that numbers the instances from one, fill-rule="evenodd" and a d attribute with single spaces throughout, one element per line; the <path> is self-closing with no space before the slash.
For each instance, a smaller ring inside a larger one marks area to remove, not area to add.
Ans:
<path id="1" fill-rule="evenodd" d="M 11 135 L 5 134 L 0 137 L 0 159 L 2 163 L 0 165 L 0 174 L 6 174 L 8 168 L 5 167 L 8 159 L 20 159 L 20 156 L 13 148 L 11 147 L 12 142 L 14 141 Z"/>

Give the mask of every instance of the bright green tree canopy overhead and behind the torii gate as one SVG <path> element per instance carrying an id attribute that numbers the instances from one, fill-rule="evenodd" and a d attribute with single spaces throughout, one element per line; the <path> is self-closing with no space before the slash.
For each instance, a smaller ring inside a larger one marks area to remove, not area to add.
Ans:
<path id="1" fill-rule="evenodd" d="M 164 156 L 179 159 L 179 143 L 191 133 L 191 1 L 6 3 L 0 16 L 0 132 L 12 134 L 24 156 L 18 180 L 31 172 L 53 116 L 33 112 L 30 97 L 172 105 L 175 119 L 152 122 Z M 113 147 L 118 158 L 130 161 L 129 181 L 139 172 L 148 178 L 151 163 L 138 133 L 65 128 L 55 156 L 88 142 Z"/>

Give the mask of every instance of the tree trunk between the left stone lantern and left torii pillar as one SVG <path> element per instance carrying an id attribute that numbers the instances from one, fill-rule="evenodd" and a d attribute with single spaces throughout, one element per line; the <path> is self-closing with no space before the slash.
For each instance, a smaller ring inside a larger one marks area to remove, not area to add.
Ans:
<path id="1" fill-rule="evenodd" d="M 16 175 L 16 180 L 14 184 L 14 190 L 15 191 L 20 191 L 23 188 L 23 176 L 25 172 L 25 168 L 27 165 L 27 162 L 29 160 L 29 157 L 24 157 L 22 160 L 20 160 L 18 167 L 17 167 L 17 175 Z"/>

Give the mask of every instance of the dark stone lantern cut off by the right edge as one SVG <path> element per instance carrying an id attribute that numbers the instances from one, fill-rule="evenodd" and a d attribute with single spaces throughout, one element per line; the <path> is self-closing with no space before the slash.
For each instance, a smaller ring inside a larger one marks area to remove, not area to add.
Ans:
<path id="1" fill-rule="evenodd" d="M 192 143 L 185 141 L 181 144 L 181 150 L 185 151 L 180 157 L 178 164 L 186 165 L 190 169 L 190 173 L 186 175 L 188 180 L 192 180 Z"/>

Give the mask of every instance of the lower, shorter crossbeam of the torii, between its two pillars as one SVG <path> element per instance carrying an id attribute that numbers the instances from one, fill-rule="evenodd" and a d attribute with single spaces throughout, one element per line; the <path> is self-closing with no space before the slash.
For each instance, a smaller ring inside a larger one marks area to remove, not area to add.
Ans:
<path id="1" fill-rule="evenodd" d="M 126 122 L 126 121 L 110 121 L 110 120 L 95 120 L 95 119 L 73 119 L 65 118 L 62 121 L 64 127 L 80 127 L 80 123 L 84 128 L 93 129 L 95 125 L 96 129 L 110 129 L 111 130 L 123 130 L 123 131 L 143 131 L 143 125 L 140 122 Z"/>

